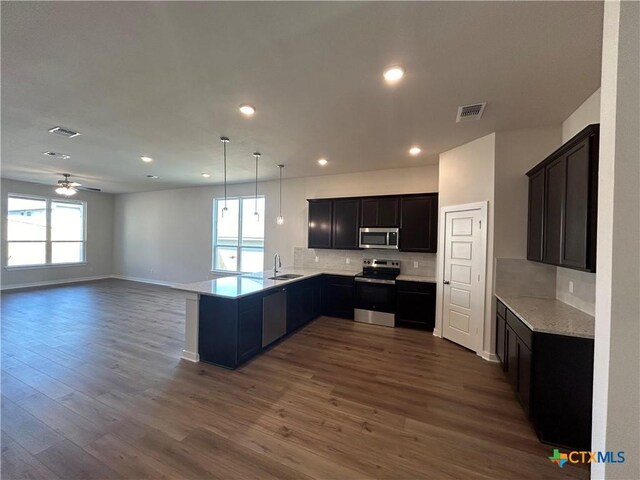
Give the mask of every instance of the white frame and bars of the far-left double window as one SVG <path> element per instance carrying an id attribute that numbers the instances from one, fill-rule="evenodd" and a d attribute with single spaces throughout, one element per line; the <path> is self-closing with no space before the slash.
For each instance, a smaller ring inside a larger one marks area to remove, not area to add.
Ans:
<path id="1" fill-rule="evenodd" d="M 20 198 L 25 200 L 37 200 L 45 202 L 45 231 L 44 240 L 9 240 L 9 199 Z M 51 239 L 51 210 L 52 203 L 69 203 L 72 205 L 82 205 L 82 240 L 52 240 Z M 7 208 L 4 212 L 5 232 L 4 242 L 4 268 L 5 270 L 32 270 L 38 268 L 58 268 L 87 265 L 87 202 L 85 200 L 75 200 L 69 198 L 45 197 L 41 195 L 31 195 L 24 193 L 8 193 Z M 43 243 L 45 244 L 45 263 L 30 263 L 25 265 L 9 265 L 9 244 L 10 243 Z M 82 260 L 79 262 L 52 263 L 52 252 L 54 243 L 82 243 Z"/>

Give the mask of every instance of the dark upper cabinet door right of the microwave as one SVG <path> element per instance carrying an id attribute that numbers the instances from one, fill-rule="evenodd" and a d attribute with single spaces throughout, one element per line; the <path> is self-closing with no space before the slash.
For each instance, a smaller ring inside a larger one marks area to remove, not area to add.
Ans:
<path id="1" fill-rule="evenodd" d="M 435 253 L 438 242 L 438 196 L 400 200 L 400 250 Z"/>

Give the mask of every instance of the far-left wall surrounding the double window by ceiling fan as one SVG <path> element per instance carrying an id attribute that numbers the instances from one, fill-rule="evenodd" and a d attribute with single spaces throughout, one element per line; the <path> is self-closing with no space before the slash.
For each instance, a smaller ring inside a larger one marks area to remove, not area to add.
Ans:
<path id="1" fill-rule="evenodd" d="M 7 195 L 20 193 L 55 198 L 51 185 L 2 179 L 2 248 L 7 239 Z M 87 263 L 78 266 L 7 270 L 2 252 L 2 288 L 45 285 L 111 275 L 113 260 L 113 195 L 80 191 L 74 197 L 87 202 Z"/>

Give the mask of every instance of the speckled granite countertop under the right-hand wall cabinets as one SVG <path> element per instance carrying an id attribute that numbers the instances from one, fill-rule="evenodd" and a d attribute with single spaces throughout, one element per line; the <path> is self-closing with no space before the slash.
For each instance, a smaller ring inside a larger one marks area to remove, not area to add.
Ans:
<path id="1" fill-rule="evenodd" d="M 534 332 L 594 338 L 595 318 L 560 300 L 497 293 L 496 297 Z"/>

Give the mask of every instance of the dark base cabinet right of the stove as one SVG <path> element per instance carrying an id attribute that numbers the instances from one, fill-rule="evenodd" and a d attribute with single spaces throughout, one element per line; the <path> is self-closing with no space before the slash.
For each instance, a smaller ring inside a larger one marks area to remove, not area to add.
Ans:
<path id="1" fill-rule="evenodd" d="M 396 282 L 396 327 L 433 330 L 436 318 L 436 284 Z"/>

